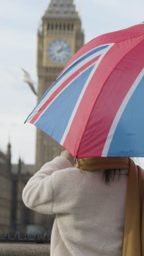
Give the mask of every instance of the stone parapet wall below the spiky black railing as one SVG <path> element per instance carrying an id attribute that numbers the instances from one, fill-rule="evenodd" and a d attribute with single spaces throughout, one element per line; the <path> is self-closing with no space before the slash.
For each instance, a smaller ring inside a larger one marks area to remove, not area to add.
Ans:
<path id="1" fill-rule="evenodd" d="M 41 243 L 1 243 L 1 256 L 50 256 L 50 245 Z"/>

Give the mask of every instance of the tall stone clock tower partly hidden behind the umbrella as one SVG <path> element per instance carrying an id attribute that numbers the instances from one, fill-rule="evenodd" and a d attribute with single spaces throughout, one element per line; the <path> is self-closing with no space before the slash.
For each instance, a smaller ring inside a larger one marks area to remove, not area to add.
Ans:
<path id="1" fill-rule="evenodd" d="M 38 101 L 83 44 L 81 20 L 74 1 L 51 0 L 38 30 Z M 37 170 L 61 151 L 62 147 L 57 142 L 37 130 Z"/>

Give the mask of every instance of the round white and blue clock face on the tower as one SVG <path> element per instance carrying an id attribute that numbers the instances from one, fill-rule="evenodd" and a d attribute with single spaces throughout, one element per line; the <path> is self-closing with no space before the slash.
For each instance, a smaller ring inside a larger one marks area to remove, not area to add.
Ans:
<path id="1" fill-rule="evenodd" d="M 70 58 L 70 44 L 62 39 L 53 40 L 48 47 L 48 55 L 54 62 L 65 62 Z"/>

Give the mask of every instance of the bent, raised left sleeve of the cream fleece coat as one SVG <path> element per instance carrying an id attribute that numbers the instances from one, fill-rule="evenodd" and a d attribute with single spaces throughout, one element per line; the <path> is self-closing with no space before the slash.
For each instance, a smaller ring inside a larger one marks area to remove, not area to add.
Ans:
<path id="1" fill-rule="evenodd" d="M 57 158 L 41 167 L 29 179 L 22 191 L 22 200 L 25 205 L 39 213 L 53 214 L 52 173 L 68 167 L 72 167 L 69 160 L 62 156 L 57 156 Z"/>

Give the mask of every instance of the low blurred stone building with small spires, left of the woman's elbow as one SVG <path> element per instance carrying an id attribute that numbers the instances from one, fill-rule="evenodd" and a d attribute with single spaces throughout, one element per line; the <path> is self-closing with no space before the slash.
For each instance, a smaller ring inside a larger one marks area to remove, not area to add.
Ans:
<path id="1" fill-rule="evenodd" d="M 21 159 L 11 164 L 11 145 L 7 152 L 0 150 L 0 236 L 5 232 L 26 232 L 26 226 L 33 223 L 33 212 L 22 202 L 22 190 L 32 176 L 33 165 L 25 165 Z"/>

